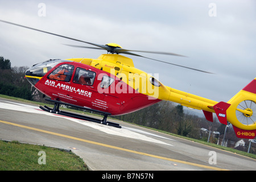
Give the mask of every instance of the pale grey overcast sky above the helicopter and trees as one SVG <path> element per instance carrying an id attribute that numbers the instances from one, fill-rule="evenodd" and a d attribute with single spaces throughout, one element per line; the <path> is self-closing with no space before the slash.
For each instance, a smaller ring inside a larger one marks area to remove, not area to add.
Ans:
<path id="1" fill-rule="evenodd" d="M 159 73 L 167 86 L 229 101 L 256 77 L 256 1 L 3 1 L 0 19 L 97 44 L 126 49 L 174 52 L 188 57 L 141 53 L 196 72 L 128 56 L 138 69 Z M 105 51 L 68 39 L 0 22 L 0 56 L 12 67 L 48 59 L 88 57 Z"/>

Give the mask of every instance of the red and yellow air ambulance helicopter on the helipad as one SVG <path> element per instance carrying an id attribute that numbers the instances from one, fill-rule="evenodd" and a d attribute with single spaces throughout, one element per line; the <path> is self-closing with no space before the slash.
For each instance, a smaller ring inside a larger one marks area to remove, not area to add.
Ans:
<path id="1" fill-rule="evenodd" d="M 233 125 L 234 132 L 238 138 L 255 138 L 256 78 L 228 102 L 217 102 L 166 86 L 151 74 L 135 68 L 132 59 L 120 54 L 139 56 L 177 67 L 210 73 L 138 55 L 137 52 L 172 56 L 183 55 L 169 52 L 124 49 L 116 43 L 95 44 L 5 20 L 0 20 L 0 22 L 75 40 L 94 47 L 65 44 L 66 46 L 104 49 L 107 51 L 106 54 L 100 55 L 97 59 L 53 59 L 35 64 L 28 69 L 25 73 L 28 82 L 48 96 L 49 99 L 46 99 L 47 101 L 54 103 L 53 108 L 40 106 L 45 111 L 121 128 L 119 124 L 107 121 L 107 117 L 109 115 L 132 113 L 163 100 L 172 101 L 182 106 L 202 110 L 205 118 L 210 122 L 213 122 L 213 113 L 216 113 L 220 123 L 227 125 L 229 122 Z M 100 113 L 103 119 L 61 111 L 59 109 L 60 105 L 95 111 Z"/>

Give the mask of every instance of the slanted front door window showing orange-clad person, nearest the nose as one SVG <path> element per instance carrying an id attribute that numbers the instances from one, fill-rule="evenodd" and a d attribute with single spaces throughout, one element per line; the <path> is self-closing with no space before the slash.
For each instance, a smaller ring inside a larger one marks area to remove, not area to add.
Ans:
<path id="1" fill-rule="evenodd" d="M 70 81 L 74 66 L 70 64 L 63 64 L 57 67 L 47 78 L 60 81 Z"/>

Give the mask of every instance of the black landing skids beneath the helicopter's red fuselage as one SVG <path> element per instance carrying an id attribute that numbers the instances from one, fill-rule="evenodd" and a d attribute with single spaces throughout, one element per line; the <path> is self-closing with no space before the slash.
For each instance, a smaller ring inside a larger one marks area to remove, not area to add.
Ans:
<path id="1" fill-rule="evenodd" d="M 44 106 L 44 107 L 39 106 L 39 107 L 40 107 L 40 109 L 42 109 L 44 111 L 48 111 L 49 113 L 65 115 L 65 116 L 68 116 L 68 117 L 83 119 L 83 120 L 86 120 L 86 121 L 91 121 L 91 122 L 101 123 L 103 125 L 108 125 L 108 126 L 121 128 L 121 126 L 118 123 L 113 123 L 113 122 L 107 121 L 108 115 L 111 115 L 110 113 L 106 113 L 106 112 L 103 112 L 103 111 L 94 110 L 94 109 L 90 109 L 90 108 L 86 108 L 86 107 L 81 107 L 81 106 L 77 106 L 77 105 L 73 105 L 73 104 L 67 104 L 67 103 L 64 103 L 64 102 L 50 100 L 50 99 L 46 99 L 46 101 L 54 102 L 54 107 L 53 108 L 50 108 L 48 106 Z M 61 110 L 59 110 L 60 104 L 61 105 L 68 105 L 68 106 L 72 106 L 72 107 L 77 107 L 77 108 L 84 109 L 84 110 L 94 111 L 94 112 L 97 112 L 97 113 L 100 113 L 101 115 L 103 115 L 104 118 L 103 119 L 97 119 L 97 118 L 92 118 L 92 117 L 88 117 L 88 116 L 85 116 L 85 115 L 80 115 L 80 114 L 75 114 L 75 113 L 69 113 L 69 112 L 66 112 L 66 111 L 61 111 Z"/>

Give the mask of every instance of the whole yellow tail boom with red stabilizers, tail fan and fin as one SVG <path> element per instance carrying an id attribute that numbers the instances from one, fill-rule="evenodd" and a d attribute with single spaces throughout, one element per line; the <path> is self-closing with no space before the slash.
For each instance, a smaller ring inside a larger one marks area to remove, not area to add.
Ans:
<path id="1" fill-rule="evenodd" d="M 253 139 L 256 135 L 256 78 L 228 102 L 216 102 L 166 87 L 170 94 L 165 100 L 203 110 L 205 118 L 213 122 L 212 113 L 227 125 L 230 122 L 238 138 Z M 163 93 L 163 92 L 161 92 Z M 167 93 L 167 92 L 164 92 Z M 161 98 L 162 99 L 162 98 Z"/>

